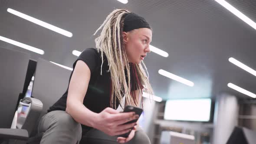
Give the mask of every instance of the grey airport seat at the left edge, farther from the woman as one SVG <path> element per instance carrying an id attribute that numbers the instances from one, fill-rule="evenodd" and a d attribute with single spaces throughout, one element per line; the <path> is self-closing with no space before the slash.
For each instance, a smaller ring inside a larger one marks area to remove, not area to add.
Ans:
<path id="1" fill-rule="evenodd" d="M 26 141 L 25 129 L 11 129 L 19 93 L 23 90 L 30 55 L 0 48 L 0 144 L 10 139 Z"/>

